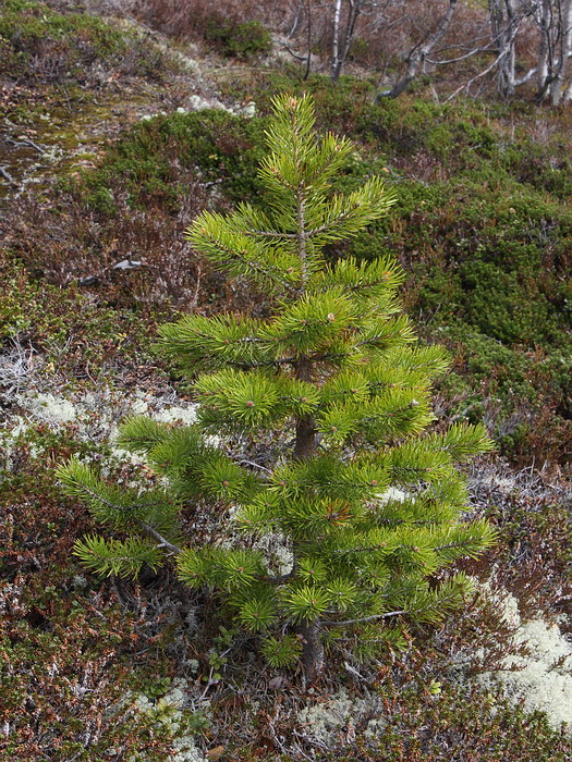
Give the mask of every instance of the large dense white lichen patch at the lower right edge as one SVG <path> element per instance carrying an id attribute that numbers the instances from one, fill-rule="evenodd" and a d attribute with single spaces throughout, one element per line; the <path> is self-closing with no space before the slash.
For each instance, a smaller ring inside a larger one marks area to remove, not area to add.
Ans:
<path id="1" fill-rule="evenodd" d="M 558 625 L 540 617 L 522 622 L 513 595 L 503 595 L 501 604 L 507 623 L 516 626 L 515 644 L 524 646 L 530 655 L 507 656 L 502 669 L 479 675 L 477 683 L 500 685 L 512 703 L 527 712 L 546 712 L 553 727 L 565 723 L 572 733 L 572 642 Z"/>

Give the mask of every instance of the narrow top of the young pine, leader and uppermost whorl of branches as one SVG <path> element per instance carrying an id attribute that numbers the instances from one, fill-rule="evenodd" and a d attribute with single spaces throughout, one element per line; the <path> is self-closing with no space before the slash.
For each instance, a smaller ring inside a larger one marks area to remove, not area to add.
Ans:
<path id="1" fill-rule="evenodd" d="M 331 134 L 316 140 L 314 123 L 308 97 L 276 98 L 269 153 L 259 168 L 266 211 L 242 204 L 228 217 L 204 213 L 187 231 L 215 267 L 281 298 L 295 299 L 306 286 L 315 295 L 311 281 L 320 281 L 324 246 L 360 232 L 394 202 L 379 177 L 355 193 L 332 195 L 331 180 L 353 146 Z"/>

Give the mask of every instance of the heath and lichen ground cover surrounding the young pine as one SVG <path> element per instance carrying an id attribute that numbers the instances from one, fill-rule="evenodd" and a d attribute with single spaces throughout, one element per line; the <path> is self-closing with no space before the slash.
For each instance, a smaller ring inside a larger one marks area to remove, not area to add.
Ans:
<path id="1" fill-rule="evenodd" d="M 2 754 L 571 759 L 570 116 L 423 93 L 374 107 L 365 74 L 303 83 L 279 60 L 205 57 L 133 19 L 0 5 Z M 284 88 L 311 89 L 320 126 L 356 140 L 340 188 L 372 169 L 393 182 L 392 220 L 351 251 L 401 259 L 424 341 L 455 357 L 440 420 L 484 419 L 498 445 L 470 474 L 475 514 L 499 529 L 465 565 L 474 600 L 382 661 L 333 653 L 311 691 L 168 570 L 88 574 L 72 549 L 94 520 L 54 479 L 77 454 L 114 483 L 153 484 L 113 435 L 134 411 L 193 418 L 150 348 L 157 324 L 265 309 L 182 231 L 206 206 L 256 201 L 269 95 Z"/>

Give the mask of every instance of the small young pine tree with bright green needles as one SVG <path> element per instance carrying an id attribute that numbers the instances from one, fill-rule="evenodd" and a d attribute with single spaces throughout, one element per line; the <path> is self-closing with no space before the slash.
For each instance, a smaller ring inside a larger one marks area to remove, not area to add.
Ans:
<path id="1" fill-rule="evenodd" d="M 77 460 L 60 478 L 120 532 L 77 543 L 89 568 L 136 575 L 169 561 L 260 636 L 272 666 L 302 657 L 314 679 L 325 642 L 367 656 L 398 646 L 407 620 L 435 622 L 462 604 L 466 578 L 437 572 L 494 539 L 485 521 L 464 521 L 455 468 L 489 441 L 482 426 L 425 432 L 430 380 L 447 359 L 415 345 L 395 296 L 399 266 L 322 256 L 387 213 L 393 197 L 382 182 L 331 194 L 353 149 L 333 135 L 317 140 L 308 97 L 276 98 L 267 144 L 266 210 L 204 212 L 187 236 L 216 268 L 264 291 L 271 317 L 191 315 L 165 325 L 160 346 L 194 377 L 197 423 L 136 417 L 121 430 L 122 446 L 144 453 L 168 487 L 125 492 Z M 263 463 L 233 454 L 245 440 L 261 443 L 251 452 L 264 452 Z M 178 521 L 197 500 L 228 509 L 226 536 L 207 546 L 182 538 Z M 281 574 L 268 536 L 289 554 Z"/>

